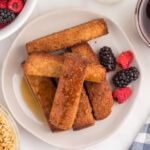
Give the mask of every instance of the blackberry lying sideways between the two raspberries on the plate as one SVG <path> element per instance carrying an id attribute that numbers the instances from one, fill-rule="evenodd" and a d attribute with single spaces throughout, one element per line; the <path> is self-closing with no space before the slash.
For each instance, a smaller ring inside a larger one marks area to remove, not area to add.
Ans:
<path id="1" fill-rule="evenodd" d="M 121 70 L 113 77 L 113 83 L 116 87 L 123 88 L 135 81 L 139 77 L 139 71 L 135 67 L 130 67 L 125 70 Z"/>

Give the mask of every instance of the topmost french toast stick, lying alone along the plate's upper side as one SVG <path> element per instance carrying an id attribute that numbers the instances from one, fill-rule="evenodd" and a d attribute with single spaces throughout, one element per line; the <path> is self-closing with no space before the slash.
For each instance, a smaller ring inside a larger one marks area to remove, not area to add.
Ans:
<path id="1" fill-rule="evenodd" d="M 94 39 L 107 33 L 107 25 L 104 19 L 96 19 L 31 41 L 26 44 L 27 52 L 57 51 Z"/>

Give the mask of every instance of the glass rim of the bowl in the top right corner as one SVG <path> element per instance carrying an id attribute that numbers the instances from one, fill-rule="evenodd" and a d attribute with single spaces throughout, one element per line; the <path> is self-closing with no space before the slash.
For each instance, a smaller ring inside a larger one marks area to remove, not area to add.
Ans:
<path id="1" fill-rule="evenodd" d="M 148 41 L 148 40 L 145 38 L 145 36 L 143 35 L 142 30 L 141 30 L 141 28 L 140 28 L 140 24 L 139 24 L 139 10 L 140 10 L 142 1 L 143 1 L 143 0 L 138 0 L 138 2 L 137 2 L 137 4 L 136 4 L 134 20 L 135 20 L 136 29 L 137 29 L 137 31 L 138 31 L 138 34 L 139 34 L 140 38 L 143 40 L 143 42 L 144 42 L 148 47 L 150 47 L 150 41 Z"/>

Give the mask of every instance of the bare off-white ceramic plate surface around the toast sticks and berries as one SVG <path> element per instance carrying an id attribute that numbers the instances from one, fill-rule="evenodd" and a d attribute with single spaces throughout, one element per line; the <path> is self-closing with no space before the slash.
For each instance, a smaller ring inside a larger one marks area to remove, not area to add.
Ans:
<path id="1" fill-rule="evenodd" d="M 23 73 L 20 63 L 27 56 L 25 44 L 38 37 L 102 17 L 108 24 L 109 34 L 89 42 L 94 51 L 98 52 L 105 45 L 110 46 L 115 55 L 125 50 L 133 50 L 124 32 L 110 18 L 88 10 L 67 9 L 44 14 L 29 23 L 14 40 L 5 58 L 2 70 L 2 90 L 11 113 L 26 130 L 53 146 L 65 149 L 85 147 L 110 136 L 121 125 L 137 100 L 140 79 L 131 84 L 133 89 L 131 98 L 122 105 L 114 104 L 112 114 L 107 119 L 96 121 L 94 126 L 84 130 L 76 132 L 70 130 L 54 134 L 47 125 L 34 117 L 21 96 L 20 81 Z M 132 65 L 139 68 L 136 57 Z M 111 79 L 113 74 L 109 73 L 108 79 Z"/>

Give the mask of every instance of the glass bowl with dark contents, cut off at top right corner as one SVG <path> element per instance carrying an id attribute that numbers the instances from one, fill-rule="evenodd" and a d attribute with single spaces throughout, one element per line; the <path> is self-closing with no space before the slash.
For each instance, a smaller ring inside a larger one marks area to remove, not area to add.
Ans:
<path id="1" fill-rule="evenodd" d="M 139 0 L 135 10 L 138 33 L 150 47 L 150 0 Z"/>

